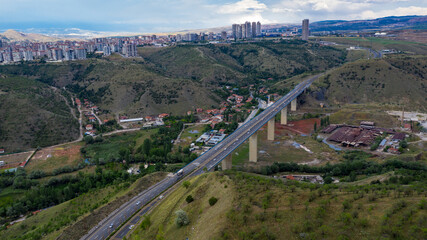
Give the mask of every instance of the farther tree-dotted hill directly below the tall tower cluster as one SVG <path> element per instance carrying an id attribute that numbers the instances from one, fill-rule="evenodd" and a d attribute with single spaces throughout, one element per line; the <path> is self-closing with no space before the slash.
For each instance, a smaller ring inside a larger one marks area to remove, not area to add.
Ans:
<path id="1" fill-rule="evenodd" d="M 284 79 L 306 71 L 324 71 L 344 62 L 346 52 L 302 41 L 250 44 L 189 45 L 140 49 L 141 56 L 158 71 L 176 77 L 211 82 L 256 82 Z"/>

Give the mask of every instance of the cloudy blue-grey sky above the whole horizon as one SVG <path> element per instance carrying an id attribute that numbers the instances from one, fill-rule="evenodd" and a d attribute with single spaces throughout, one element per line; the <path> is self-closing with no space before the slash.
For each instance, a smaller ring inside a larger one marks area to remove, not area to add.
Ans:
<path id="1" fill-rule="evenodd" d="M 244 21 L 299 23 L 427 15 L 427 0 L 0 0 L 0 30 L 165 32 Z"/>

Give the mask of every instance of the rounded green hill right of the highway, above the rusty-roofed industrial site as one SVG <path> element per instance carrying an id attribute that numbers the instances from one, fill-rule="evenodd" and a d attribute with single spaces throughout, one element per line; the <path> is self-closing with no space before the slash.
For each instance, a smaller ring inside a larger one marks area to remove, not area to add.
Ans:
<path id="1" fill-rule="evenodd" d="M 389 57 L 348 63 L 320 78 L 311 97 L 331 106 L 352 103 L 405 105 L 427 111 L 427 58 Z"/>

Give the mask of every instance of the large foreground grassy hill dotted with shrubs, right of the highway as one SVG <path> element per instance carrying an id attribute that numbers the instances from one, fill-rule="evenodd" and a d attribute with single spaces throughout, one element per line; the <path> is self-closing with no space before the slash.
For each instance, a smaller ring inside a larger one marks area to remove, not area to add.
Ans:
<path id="1" fill-rule="evenodd" d="M 221 184 L 222 183 L 222 184 Z M 227 186 L 227 188 L 225 188 Z M 242 173 L 211 173 L 180 187 L 150 214 L 151 225 L 137 227 L 131 239 L 421 239 L 427 211 L 424 193 L 405 196 L 366 186 L 329 189 L 285 184 Z M 310 190 L 311 189 L 311 190 Z M 362 189 L 362 188 L 361 188 Z M 187 204 L 188 194 L 207 192 Z M 219 200 L 209 207 L 214 194 Z M 231 200 L 231 202 L 230 202 Z M 346 202 L 344 208 L 343 202 Z M 190 224 L 178 228 L 174 212 L 185 210 Z M 215 214 L 212 214 L 215 211 Z M 423 230 L 424 229 L 424 230 Z"/>

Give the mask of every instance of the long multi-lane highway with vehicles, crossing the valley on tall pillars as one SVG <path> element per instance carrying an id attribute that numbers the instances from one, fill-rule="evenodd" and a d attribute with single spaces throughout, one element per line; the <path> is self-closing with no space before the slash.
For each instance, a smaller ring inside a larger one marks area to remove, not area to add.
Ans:
<path id="1" fill-rule="evenodd" d="M 202 174 L 206 170 L 209 171 L 213 169 L 225 157 L 231 154 L 238 146 L 245 142 L 252 134 L 258 131 L 258 129 L 260 129 L 271 118 L 273 118 L 283 108 L 285 108 L 292 100 L 298 97 L 298 95 L 300 95 L 307 87 L 310 86 L 313 81 L 315 81 L 320 76 L 321 74 L 301 82 L 286 96 L 276 101 L 258 116 L 254 117 L 249 122 L 239 127 L 236 131 L 234 131 L 216 146 L 211 148 L 209 151 L 205 152 L 193 162 L 186 165 L 184 168 L 182 168 L 184 171 L 184 175 L 186 176 L 178 176 L 177 174 L 168 176 L 157 184 L 141 192 L 140 194 L 132 198 L 130 201 L 116 209 L 110 215 L 108 215 L 104 220 L 98 223 L 98 225 L 92 228 L 85 236 L 83 236 L 81 240 L 106 239 L 116 228 L 118 228 L 122 223 L 128 220 L 134 213 L 139 211 L 143 206 L 150 203 L 151 205 L 146 206 L 143 209 L 144 213 L 147 212 L 150 207 L 154 206 L 156 201 L 158 201 L 158 196 L 161 193 L 172 187 L 174 184 L 176 184 L 183 178 L 190 178 Z M 143 214 L 139 213 L 139 215 L 142 216 Z M 138 217 L 137 219 L 140 219 L 140 217 Z M 132 219 L 132 221 L 134 220 Z M 127 233 L 127 231 L 125 230 L 122 234 L 122 231 L 119 231 L 118 235 L 121 236 Z"/>

